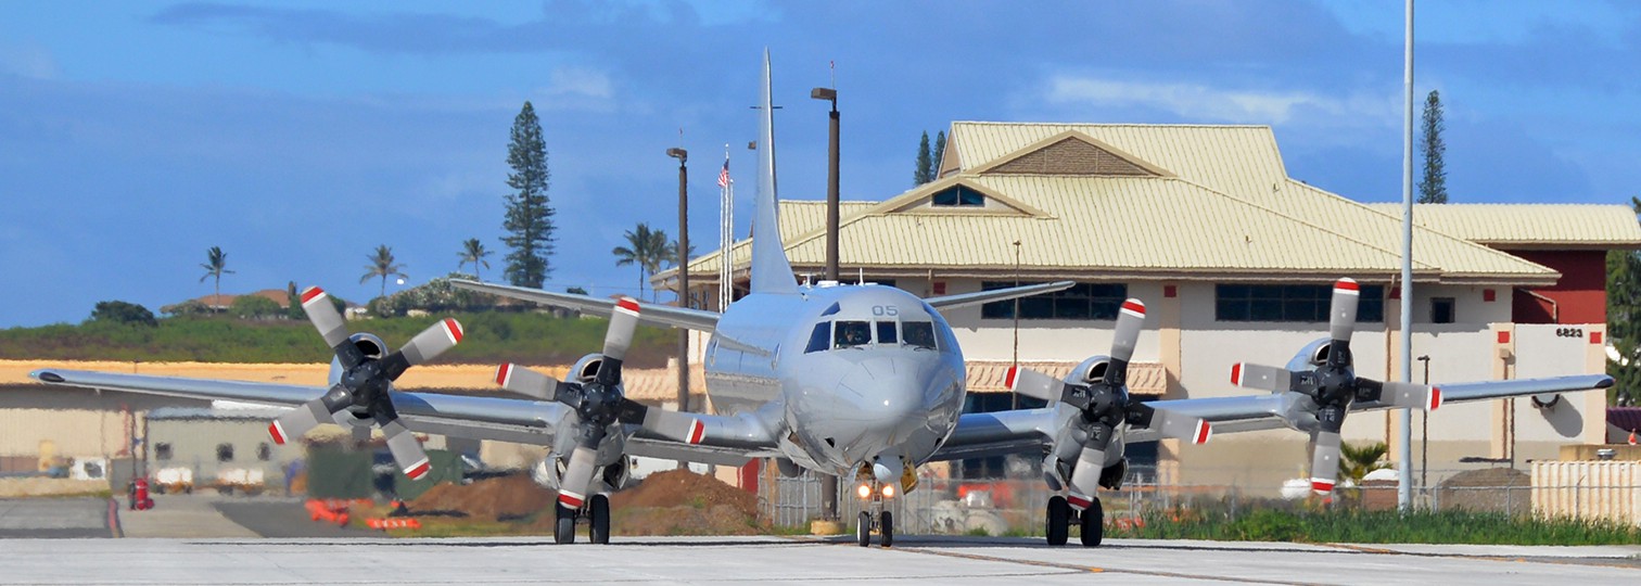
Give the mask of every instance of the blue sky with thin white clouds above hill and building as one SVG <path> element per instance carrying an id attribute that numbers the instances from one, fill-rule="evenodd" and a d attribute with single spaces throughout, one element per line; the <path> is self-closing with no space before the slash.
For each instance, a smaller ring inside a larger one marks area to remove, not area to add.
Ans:
<path id="1" fill-rule="evenodd" d="M 1415 92 L 1446 107 L 1452 202 L 1641 195 L 1641 3 L 1423 2 Z M 1288 174 L 1401 199 L 1401 2 L 25 2 L 0 0 L 0 327 L 320 284 L 364 302 L 505 250 L 507 138 L 540 120 L 548 289 L 637 294 L 610 250 L 647 222 L 715 248 L 724 153 L 745 233 L 760 64 L 783 199 L 912 187 L 953 120 L 1273 128 Z M 729 146 L 734 148 L 729 148 Z M 399 286 L 389 282 L 389 292 Z"/>

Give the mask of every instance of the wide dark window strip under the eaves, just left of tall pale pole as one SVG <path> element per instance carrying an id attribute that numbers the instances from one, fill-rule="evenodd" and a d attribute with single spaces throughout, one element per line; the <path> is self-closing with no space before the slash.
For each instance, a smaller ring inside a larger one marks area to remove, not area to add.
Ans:
<path id="1" fill-rule="evenodd" d="M 1332 286 L 1214 286 L 1219 322 L 1328 322 Z M 1362 286 L 1357 322 L 1385 320 L 1385 287 Z"/>

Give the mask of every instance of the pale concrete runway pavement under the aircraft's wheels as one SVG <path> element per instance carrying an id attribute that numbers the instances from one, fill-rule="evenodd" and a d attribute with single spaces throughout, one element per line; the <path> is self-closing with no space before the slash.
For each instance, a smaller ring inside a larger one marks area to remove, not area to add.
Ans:
<path id="1" fill-rule="evenodd" d="M 779 537 L 450 540 L 7 540 L 0 583 L 939 583 L 991 584 L 1620 584 L 1641 547 L 1291 545 L 1111 540 L 1050 548 L 1027 538 L 901 537 L 894 548 Z M 62 560 L 82 560 L 66 565 Z"/>

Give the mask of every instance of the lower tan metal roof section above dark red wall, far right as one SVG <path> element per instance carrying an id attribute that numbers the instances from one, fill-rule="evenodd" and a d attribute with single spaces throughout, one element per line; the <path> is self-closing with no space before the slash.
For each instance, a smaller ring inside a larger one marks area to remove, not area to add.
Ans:
<path id="1" fill-rule="evenodd" d="M 1369 204 L 1401 218 L 1401 204 Z M 1418 204 L 1413 223 L 1503 248 L 1641 248 L 1641 223 L 1628 205 Z"/>

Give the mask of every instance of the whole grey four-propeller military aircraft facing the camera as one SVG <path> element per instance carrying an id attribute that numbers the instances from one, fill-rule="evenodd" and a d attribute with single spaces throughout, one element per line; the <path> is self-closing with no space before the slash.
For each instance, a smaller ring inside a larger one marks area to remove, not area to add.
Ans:
<path id="1" fill-rule="evenodd" d="M 1126 387 L 1127 363 L 1145 320 L 1137 299 L 1122 304 L 1109 355 L 1078 364 L 1065 379 L 1011 369 L 1011 391 L 1049 401 L 1044 409 L 962 414 L 963 353 L 940 310 L 1067 289 L 1035 284 L 919 299 L 884 286 L 799 286 L 778 238 L 775 131 L 770 61 L 765 53 L 760 172 L 753 217 L 750 294 L 725 312 L 645 307 L 633 299 L 597 299 L 487 282 L 458 287 L 609 315 L 599 353 L 581 358 L 568 381 L 515 364 L 497 369 L 497 384 L 532 399 L 397 392 L 392 381 L 461 340 L 455 320 L 435 323 L 395 353 L 382 340 L 346 335 L 320 289 L 304 299 L 309 318 L 336 351 L 333 386 L 156 378 L 66 369 L 33 378 L 108 391 L 228 399 L 295 407 L 269 425 L 277 442 L 320 422 L 353 430 L 381 427 L 399 466 L 427 471 L 410 430 L 450 437 L 551 446 L 546 483 L 558 489 L 558 543 L 574 540 L 587 519 L 591 540 L 609 542 L 609 497 L 629 474 L 629 455 L 719 465 L 770 458 L 783 474 L 812 469 L 858 481 L 868 510 L 857 540 L 893 543 L 888 501 L 916 486 L 927 461 L 1029 453 L 1044 458 L 1044 479 L 1055 492 L 1045 519 L 1050 545 L 1065 545 L 1072 524 L 1085 547 L 1099 545 L 1103 512 L 1098 488 L 1116 489 L 1126 473 L 1124 443 L 1182 438 L 1208 442 L 1218 432 L 1293 427 L 1316 433 L 1318 491 L 1329 491 L 1337 466 L 1339 425 L 1346 410 L 1426 407 L 1442 402 L 1564 392 L 1611 384 L 1605 376 L 1447 384 L 1441 391 L 1375 382 L 1351 371 L 1349 328 L 1354 282 L 1341 281 L 1332 305 L 1332 336 L 1300 353 L 1288 369 L 1237 366 L 1232 382 L 1275 391 L 1268 396 L 1139 402 Z M 1349 315 L 1347 315 L 1349 314 Z M 704 371 L 719 414 L 681 414 L 647 407 L 624 396 L 622 358 L 638 322 L 711 332 Z M 1306 369 L 1310 368 L 1310 369 Z"/>

